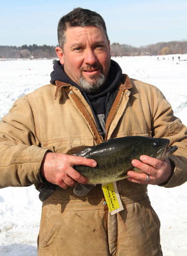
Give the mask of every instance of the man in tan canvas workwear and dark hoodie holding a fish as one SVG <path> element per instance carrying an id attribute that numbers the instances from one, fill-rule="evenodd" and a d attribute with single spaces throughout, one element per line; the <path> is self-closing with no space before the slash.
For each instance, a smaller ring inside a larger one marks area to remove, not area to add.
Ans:
<path id="1" fill-rule="evenodd" d="M 147 185 L 186 181 L 186 127 L 156 87 L 129 79 L 110 60 L 99 14 L 74 9 L 60 19 L 58 37 L 51 83 L 16 101 L 2 119 L 1 187 L 58 185 L 42 205 L 39 255 L 162 255 Z M 133 160 L 142 173 L 129 171 L 117 182 L 124 210 L 111 215 L 100 185 L 84 197 L 72 192 L 75 182 L 87 182 L 73 166 L 97 163 L 65 153 L 127 135 L 167 137 L 178 150 L 163 161 Z"/>

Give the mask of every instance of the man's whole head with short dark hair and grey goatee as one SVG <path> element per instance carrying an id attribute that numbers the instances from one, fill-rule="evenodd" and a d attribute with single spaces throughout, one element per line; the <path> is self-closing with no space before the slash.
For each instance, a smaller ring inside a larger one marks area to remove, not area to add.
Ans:
<path id="1" fill-rule="evenodd" d="M 56 52 L 65 73 L 86 91 L 97 91 L 110 69 L 110 42 L 103 18 L 76 8 L 60 19 L 58 39 Z"/>

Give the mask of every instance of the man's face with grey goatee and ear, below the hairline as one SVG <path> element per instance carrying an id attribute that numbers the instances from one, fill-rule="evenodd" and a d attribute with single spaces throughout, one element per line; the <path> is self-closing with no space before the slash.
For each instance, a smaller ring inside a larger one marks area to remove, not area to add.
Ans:
<path id="1" fill-rule="evenodd" d="M 110 69 L 109 44 L 103 28 L 69 27 L 64 49 L 57 47 L 56 51 L 70 79 L 87 91 L 97 91 Z"/>

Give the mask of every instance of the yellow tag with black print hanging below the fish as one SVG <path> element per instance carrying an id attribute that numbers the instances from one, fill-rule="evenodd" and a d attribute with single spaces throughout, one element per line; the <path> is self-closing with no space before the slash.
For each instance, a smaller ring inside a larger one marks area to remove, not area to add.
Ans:
<path id="1" fill-rule="evenodd" d="M 108 205 L 108 210 L 111 214 L 116 214 L 123 210 L 123 205 L 118 194 L 116 182 L 102 185 L 103 194 Z"/>

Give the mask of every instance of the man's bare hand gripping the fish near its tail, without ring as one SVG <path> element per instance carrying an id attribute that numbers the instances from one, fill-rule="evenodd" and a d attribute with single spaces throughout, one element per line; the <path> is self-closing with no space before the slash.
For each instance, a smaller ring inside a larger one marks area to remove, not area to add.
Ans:
<path id="1" fill-rule="evenodd" d="M 86 159 L 76 155 L 61 153 L 46 153 L 41 166 L 42 176 L 50 183 L 59 185 L 63 189 L 73 187 L 75 182 L 87 183 L 87 179 L 73 168 L 74 165 L 87 165 L 95 167 L 93 159 Z"/>

